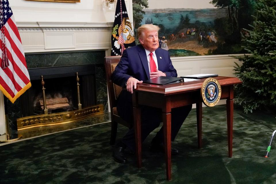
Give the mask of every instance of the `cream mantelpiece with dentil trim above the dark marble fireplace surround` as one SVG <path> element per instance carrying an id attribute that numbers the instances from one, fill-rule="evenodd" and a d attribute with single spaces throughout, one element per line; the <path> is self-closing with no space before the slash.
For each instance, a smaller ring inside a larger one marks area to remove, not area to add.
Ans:
<path id="1" fill-rule="evenodd" d="M 25 53 L 111 48 L 113 22 L 17 22 L 17 25 Z"/>

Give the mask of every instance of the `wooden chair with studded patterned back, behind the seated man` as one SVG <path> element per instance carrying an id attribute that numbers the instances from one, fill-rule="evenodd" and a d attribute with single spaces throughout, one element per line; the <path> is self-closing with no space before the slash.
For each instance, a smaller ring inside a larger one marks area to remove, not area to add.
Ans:
<path id="1" fill-rule="evenodd" d="M 109 95 L 109 105 L 111 111 L 111 137 L 110 137 L 110 145 L 114 145 L 117 134 L 118 123 L 130 128 L 131 125 L 124 121 L 117 112 L 116 108 L 116 100 L 122 91 L 122 87 L 112 83 L 111 74 L 114 72 L 115 67 L 120 61 L 121 56 L 108 56 L 105 57 L 105 68 L 106 68 L 106 80 L 108 87 L 108 95 Z"/>

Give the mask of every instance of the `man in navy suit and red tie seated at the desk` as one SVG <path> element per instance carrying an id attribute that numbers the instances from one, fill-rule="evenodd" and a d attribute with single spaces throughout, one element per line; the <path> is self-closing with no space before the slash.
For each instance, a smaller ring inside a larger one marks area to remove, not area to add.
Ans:
<path id="1" fill-rule="evenodd" d="M 127 90 L 122 90 L 117 100 L 117 111 L 127 122 L 133 124 L 132 93 L 137 84 L 159 76 L 177 77 L 168 51 L 159 48 L 159 27 L 145 24 L 137 29 L 141 45 L 124 50 L 121 60 L 112 73 L 112 81 Z M 171 140 L 175 139 L 183 121 L 191 111 L 191 105 L 173 108 L 171 112 Z M 162 122 L 162 110 L 158 108 L 141 107 L 141 140 L 145 138 Z M 163 127 L 152 139 L 150 150 L 164 153 Z M 135 152 L 134 128 L 131 128 L 122 140 L 115 145 L 113 157 L 116 162 L 126 163 L 124 149 L 128 147 Z M 172 148 L 172 154 L 179 151 Z"/>

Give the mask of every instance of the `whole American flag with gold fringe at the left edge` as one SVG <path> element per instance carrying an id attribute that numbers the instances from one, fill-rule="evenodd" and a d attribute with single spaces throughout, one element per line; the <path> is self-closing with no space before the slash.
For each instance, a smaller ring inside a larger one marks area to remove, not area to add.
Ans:
<path id="1" fill-rule="evenodd" d="M 8 0 L 0 2 L 0 89 L 14 103 L 31 83 L 11 7 Z"/>

